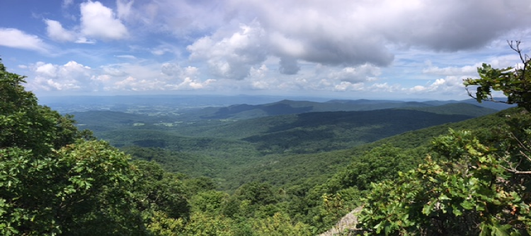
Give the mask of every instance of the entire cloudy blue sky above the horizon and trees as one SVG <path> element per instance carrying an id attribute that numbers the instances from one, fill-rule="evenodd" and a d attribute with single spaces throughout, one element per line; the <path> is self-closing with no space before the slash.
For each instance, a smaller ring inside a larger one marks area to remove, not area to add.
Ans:
<path id="1" fill-rule="evenodd" d="M 1 0 L 0 58 L 48 95 L 463 100 L 531 49 L 529 0 Z"/>

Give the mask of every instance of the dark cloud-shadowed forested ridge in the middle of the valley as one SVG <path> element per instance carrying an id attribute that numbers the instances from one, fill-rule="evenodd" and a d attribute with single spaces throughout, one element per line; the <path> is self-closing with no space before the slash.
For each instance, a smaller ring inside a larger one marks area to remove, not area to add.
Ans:
<path id="1" fill-rule="evenodd" d="M 401 109 L 308 112 L 290 116 L 296 117 L 248 119 L 234 123 L 232 127 L 226 126 L 224 130 L 233 130 L 234 134 L 241 126 L 260 127 L 263 124 L 274 124 L 261 134 L 242 140 L 257 143 L 260 151 L 315 153 L 358 146 L 406 131 L 472 118 L 463 114 L 436 114 Z M 272 122 L 271 119 L 289 122 Z M 246 124 L 247 122 L 251 124 Z"/>

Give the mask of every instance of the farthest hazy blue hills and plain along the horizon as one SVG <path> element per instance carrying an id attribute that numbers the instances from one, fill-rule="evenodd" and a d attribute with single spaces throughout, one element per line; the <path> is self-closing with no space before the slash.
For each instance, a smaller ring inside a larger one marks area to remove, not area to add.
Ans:
<path id="1" fill-rule="evenodd" d="M 496 100 L 503 100 L 497 98 Z M 494 110 L 509 105 L 495 102 L 477 103 L 474 99 L 447 101 L 400 100 L 330 100 L 326 98 L 282 98 L 253 95 L 121 95 L 42 97 L 39 102 L 62 113 L 110 110 L 128 113 L 176 112 L 191 119 L 249 119 L 301 112 L 335 112 L 380 110 L 402 107 L 432 107 L 451 103 L 469 103 Z"/>

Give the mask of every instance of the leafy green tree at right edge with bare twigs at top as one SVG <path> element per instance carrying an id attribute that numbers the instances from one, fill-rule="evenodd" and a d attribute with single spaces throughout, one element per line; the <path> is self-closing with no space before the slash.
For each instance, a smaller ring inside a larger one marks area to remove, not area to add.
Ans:
<path id="1" fill-rule="evenodd" d="M 484 64 L 478 102 L 502 91 L 519 107 L 506 124 L 488 135 L 452 131 L 435 138 L 433 155 L 398 179 L 372 184 L 360 225 L 365 235 L 530 235 L 531 234 L 531 76 L 520 42 L 523 67 L 493 69 Z M 468 88 L 467 88 L 468 90 Z"/>

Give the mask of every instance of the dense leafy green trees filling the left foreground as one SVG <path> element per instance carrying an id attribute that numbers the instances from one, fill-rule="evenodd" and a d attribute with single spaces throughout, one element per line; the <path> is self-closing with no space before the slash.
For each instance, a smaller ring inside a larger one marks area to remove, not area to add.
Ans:
<path id="1" fill-rule="evenodd" d="M 132 165 L 129 155 L 79 131 L 72 116 L 38 105 L 23 78 L 0 63 L 0 235 L 183 228 L 189 206 L 176 177 L 153 163 Z"/>

